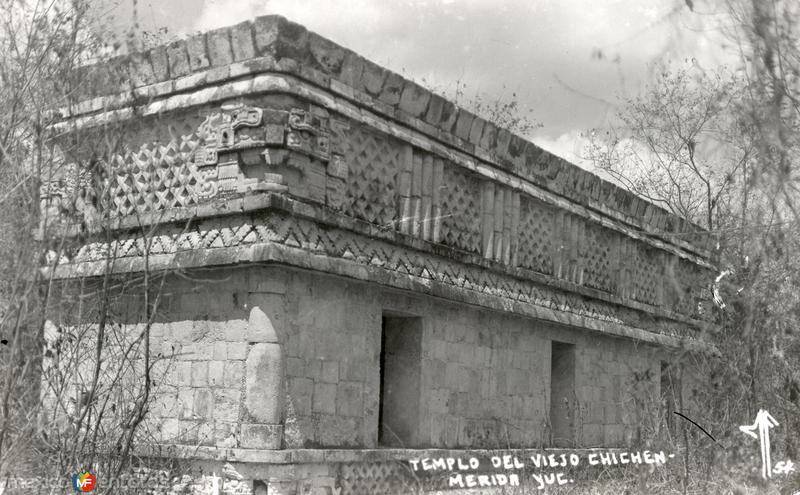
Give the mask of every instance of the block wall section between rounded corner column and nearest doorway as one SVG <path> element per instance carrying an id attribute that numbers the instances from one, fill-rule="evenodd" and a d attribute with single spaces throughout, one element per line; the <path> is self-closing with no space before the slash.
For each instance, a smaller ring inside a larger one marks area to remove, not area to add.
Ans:
<path id="1" fill-rule="evenodd" d="M 381 330 L 375 291 L 341 279 L 285 273 L 287 446 L 374 446 Z"/>

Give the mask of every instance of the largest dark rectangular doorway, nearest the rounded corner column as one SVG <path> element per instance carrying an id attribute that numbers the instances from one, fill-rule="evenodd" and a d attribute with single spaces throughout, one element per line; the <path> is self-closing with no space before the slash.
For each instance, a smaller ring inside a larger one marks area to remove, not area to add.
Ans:
<path id="1" fill-rule="evenodd" d="M 381 325 L 378 445 L 419 443 L 422 319 L 383 315 Z"/>

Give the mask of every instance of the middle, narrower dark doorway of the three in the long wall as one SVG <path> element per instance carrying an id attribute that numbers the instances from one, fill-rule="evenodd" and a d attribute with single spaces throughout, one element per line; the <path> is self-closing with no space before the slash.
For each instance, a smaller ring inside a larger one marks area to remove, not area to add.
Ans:
<path id="1" fill-rule="evenodd" d="M 551 446 L 575 446 L 575 401 L 575 345 L 553 341 L 550 354 Z"/>

